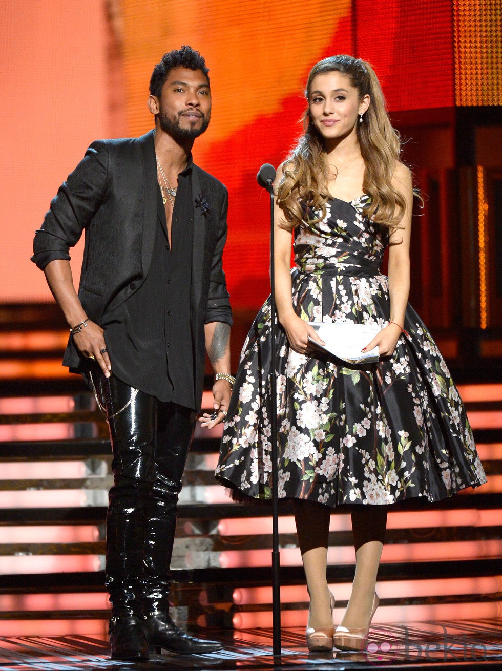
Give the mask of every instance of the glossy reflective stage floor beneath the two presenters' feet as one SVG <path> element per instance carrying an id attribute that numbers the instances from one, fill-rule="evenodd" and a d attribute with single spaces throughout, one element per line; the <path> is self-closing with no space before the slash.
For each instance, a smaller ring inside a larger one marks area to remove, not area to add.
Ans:
<path id="1" fill-rule="evenodd" d="M 64 671 L 66 669 L 370 669 L 370 668 L 501 668 L 502 621 L 455 621 L 372 627 L 363 653 L 313 654 L 305 647 L 303 631 L 283 629 L 283 654 L 272 656 L 272 631 L 211 629 L 224 650 L 207 655 L 152 655 L 149 662 L 112 662 L 106 640 L 92 636 L 23 636 L 0 639 L 0 669 Z"/>

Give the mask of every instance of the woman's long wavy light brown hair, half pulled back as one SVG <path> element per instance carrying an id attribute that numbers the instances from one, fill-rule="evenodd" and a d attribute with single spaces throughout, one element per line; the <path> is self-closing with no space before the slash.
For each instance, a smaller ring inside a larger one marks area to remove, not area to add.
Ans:
<path id="1" fill-rule="evenodd" d="M 281 227 L 291 231 L 305 216 L 305 207 L 325 217 L 328 193 L 328 165 L 324 140 L 311 119 L 309 99 L 317 74 L 340 72 L 358 90 L 359 100 L 370 97 L 370 105 L 356 123 L 356 133 L 364 160 L 362 191 L 370 196 L 364 214 L 376 223 L 395 228 L 405 211 L 405 199 L 392 185 L 395 162 L 401 153 L 399 134 L 385 109 L 379 80 L 369 63 L 342 54 L 329 56 L 313 66 L 307 80 L 307 110 L 303 115 L 304 134 L 284 162 L 283 177 L 277 187 L 277 203 L 284 213 Z"/>

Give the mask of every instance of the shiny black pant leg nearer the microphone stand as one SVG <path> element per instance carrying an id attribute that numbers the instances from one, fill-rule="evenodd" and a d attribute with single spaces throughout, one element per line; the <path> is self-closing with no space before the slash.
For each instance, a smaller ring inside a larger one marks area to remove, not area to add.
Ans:
<path id="1" fill-rule="evenodd" d="M 154 484 L 146 506 L 143 612 L 168 612 L 170 562 L 177 521 L 178 495 L 195 430 L 193 410 L 159 403 L 157 411 Z"/>

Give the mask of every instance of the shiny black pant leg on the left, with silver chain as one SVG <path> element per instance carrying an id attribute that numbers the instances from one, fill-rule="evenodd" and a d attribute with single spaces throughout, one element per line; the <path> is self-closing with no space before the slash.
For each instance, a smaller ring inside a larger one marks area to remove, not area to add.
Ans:
<path id="1" fill-rule="evenodd" d="M 99 378 L 113 454 L 113 486 L 106 521 L 106 584 L 113 605 L 112 619 L 142 614 L 140 576 L 146 506 L 154 484 L 158 402 L 141 391 L 136 396 L 134 393 L 113 375 Z"/>

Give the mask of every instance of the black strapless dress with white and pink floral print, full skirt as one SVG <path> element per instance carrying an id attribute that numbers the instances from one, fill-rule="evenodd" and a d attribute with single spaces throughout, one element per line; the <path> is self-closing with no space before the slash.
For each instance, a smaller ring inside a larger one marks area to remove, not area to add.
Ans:
<path id="1" fill-rule="evenodd" d="M 295 229 L 293 306 L 305 321 L 389 323 L 387 229 L 364 215 L 367 198 L 333 198 L 322 221 Z M 350 366 L 294 352 L 277 326 L 279 497 L 438 501 L 486 482 L 462 400 L 410 305 L 405 329 L 393 356 Z M 271 497 L 270 354 L 269 298 L 242 349 L 216 470 L 238 500 Z"/>

